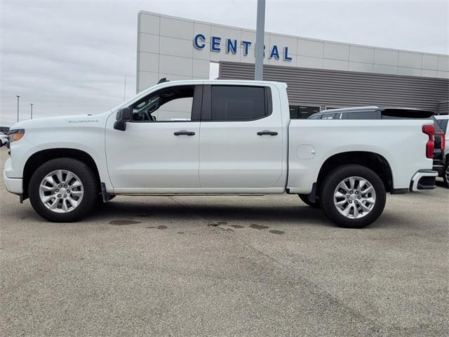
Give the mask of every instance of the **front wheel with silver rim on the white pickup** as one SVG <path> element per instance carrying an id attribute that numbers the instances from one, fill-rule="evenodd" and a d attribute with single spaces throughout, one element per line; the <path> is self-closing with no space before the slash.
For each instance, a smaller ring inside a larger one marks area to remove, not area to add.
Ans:
<path id="1" fill-rule="evenodd" d="M 28 194 L 34 211 L 42 218 L 54 223 L 72 223 L 86 216 L 95 205 L 98 182 L 82 161 L 51 159 L 34 172 Z"/>

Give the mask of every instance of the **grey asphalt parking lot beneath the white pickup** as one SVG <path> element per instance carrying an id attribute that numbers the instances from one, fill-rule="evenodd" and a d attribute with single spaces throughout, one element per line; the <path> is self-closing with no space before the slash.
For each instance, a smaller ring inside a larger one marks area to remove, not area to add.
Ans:
<path id="1" fill-rule="evenodd" d="M 0 335 L 448 336 L 439 185 L 344 230 L 294 195 L 116 197 L 48 223 L 2 180 Z"/>

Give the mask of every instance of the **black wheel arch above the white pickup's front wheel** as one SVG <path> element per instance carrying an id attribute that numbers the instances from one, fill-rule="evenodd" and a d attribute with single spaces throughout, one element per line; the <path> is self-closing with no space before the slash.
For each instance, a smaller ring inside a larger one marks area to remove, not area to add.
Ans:
<path id="1" fill-rule="evenodd" d="M 57 158 L 71 158 L 82 161 L 84 164 L 89 166 L 89 168 L 93 171 L 96 183 L 98 184 L 98 189 L 100 189 L 100 173 L 98 171 L 97 164 L 93 160 L 93 157 L 83 150 L 72 149 L 72 148 L 59 148 L 59 149 L 47 149 L 41 150 L 39 152 L 35 152 L 31 157 L 27 159 L 23 169 L 23 194 L 22 199 L 25 200 L 28 198 L 28 185 L 29 180 L 31 179 L 36 168 L 41 166 L 48 160 L 57 159 Z"/>

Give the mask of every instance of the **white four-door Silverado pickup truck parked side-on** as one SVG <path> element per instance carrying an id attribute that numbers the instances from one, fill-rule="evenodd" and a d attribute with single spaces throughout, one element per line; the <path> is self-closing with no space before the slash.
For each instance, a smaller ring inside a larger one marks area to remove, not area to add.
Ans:
<path id="1" fill-rule="evenodd" d="M 290 120 L 286 88 L 163 81 L 102 114 L 22 121 L 6 189 L 56 222 L 119 194 L 299 194 L 356 228 L 380 216 L 386 192 L 435 187 L 433 121 Z"/>

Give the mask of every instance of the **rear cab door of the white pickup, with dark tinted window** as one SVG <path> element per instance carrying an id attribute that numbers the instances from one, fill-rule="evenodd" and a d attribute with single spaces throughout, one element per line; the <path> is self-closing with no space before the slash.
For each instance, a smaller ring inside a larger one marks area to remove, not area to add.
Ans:
<path id="1" fill-rule="evenodd" d="M 269 86 L 203 88 L 199 178 L 201 187 L 279 187 L 282 120 Z M 229 191 L 231 192 L 231 191 Z"/>

